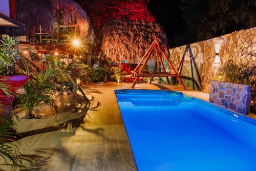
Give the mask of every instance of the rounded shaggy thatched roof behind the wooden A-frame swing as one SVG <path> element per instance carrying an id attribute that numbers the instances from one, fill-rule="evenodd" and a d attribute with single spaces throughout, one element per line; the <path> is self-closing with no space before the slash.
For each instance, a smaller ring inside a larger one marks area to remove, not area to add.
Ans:
<path id="1" fill-rule="evenodd" d="M 112 20 L 103 27 L 101 50 L 112 60 L 138 62 L 151 46 L 154 37 L 168 54 L 168 42 L 163 28 L 155 22 Z M 156 57 L 156 52 L 152 57 Z"/>

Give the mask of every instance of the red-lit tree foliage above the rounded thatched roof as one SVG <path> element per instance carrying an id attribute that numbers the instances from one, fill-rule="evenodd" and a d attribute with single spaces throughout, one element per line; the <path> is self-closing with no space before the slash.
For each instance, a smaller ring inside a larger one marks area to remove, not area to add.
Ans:
<path id="1" fill-rule="evenodd" d="M 88 11 L 96 29 L 101 29 L 112 19 L 155 21 L 155 17 L 147 9 L 148 0 L 91 0 L 81 3 L 84 3 L 82 7 Z"/>

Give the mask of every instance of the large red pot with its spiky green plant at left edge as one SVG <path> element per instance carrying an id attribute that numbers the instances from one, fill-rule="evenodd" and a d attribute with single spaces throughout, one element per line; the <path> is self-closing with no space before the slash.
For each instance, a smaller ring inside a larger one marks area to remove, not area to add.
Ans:
<path id="1" fill-rule="evenodd" d="M 22 88 L 29 79 L 29 74 L 18 73 L 15 62 L 20 58 L 18 43 L 8 35 L 0 35 L 0 82 L 8 87 L 6 91 L 0 90 L 0 103 L 6 107 L 1 112 L 5 117 L 11 118 L 10 106 L 15 97 L 15 92 Z"/>

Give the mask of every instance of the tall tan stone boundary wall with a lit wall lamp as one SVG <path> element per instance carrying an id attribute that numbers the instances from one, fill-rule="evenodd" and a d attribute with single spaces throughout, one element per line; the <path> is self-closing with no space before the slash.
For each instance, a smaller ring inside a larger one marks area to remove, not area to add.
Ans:
<path id="1" fill-rule="evenodd" d="M 183 74 L 187 88 L 209 93 L 210 80 L 226 62 L 254 61 L 256 27 L 169 50 L 170 60 Z M 183 63 L 183 65 L 182 65 Z"/>

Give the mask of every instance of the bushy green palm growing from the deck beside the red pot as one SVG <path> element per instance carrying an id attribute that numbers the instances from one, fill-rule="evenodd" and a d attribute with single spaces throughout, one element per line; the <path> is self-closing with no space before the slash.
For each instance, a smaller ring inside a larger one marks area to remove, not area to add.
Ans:
<path id="1" fill-rule="evenodd" d="M 56 82 L 59 76 L 65 76 L 74 83 L 71 76 L 58 69 L 47 69 L 37 73 L 24 86 L 25 94 L 17 96 L 19 100 L 18 108 L 24 110 L 28 118 L 39 117 L 40 113 L 37 106 L 44 102 L 56 112 L 59 110 L 57 106 L 57 92 L 61 87 Z"/>

